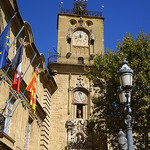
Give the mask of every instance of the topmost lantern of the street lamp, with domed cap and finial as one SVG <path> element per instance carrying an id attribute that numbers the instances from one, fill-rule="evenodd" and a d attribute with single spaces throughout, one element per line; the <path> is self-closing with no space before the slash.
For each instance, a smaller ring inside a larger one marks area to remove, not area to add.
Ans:
<path id="1" fill-rule="evenodd" d="M 122 88 L 132 86 L 133 70 L 127 65 L 126 59 L 122 62 L 123 66 L 119 70 L 120 84 Z"/>

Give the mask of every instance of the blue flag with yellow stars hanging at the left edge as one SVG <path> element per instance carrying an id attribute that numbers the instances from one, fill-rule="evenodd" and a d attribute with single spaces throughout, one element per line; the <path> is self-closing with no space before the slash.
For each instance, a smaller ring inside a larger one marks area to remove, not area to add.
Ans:
<path id="1" fill-rule="evenodd" d="M 4 68 L 8 63 L 10 25 L 15 15 L 10 19 L 7 26 L 5 27 L 3 32 L 0 34 L 0 69 Z"/>

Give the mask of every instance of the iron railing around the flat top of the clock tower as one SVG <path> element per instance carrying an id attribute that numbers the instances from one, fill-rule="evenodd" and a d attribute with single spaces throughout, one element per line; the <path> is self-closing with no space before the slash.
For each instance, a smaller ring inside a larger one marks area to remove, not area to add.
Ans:
<path id="1" fill-rule="evenodd" d="M 73 9 L 60 9 L 60 14 L 77 14 L 81 16 L 91 16 L 91 17 L 102 17 L 101 12 L 96 11 L 81 11 L 81 10 L 73 10 Z"/>

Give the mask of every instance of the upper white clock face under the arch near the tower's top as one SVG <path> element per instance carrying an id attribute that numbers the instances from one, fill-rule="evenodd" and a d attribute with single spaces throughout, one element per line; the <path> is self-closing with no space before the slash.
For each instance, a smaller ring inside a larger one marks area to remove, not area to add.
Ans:
<path id="1" fill-rule="evenodd" d="M 83 31 L 74 32 L 74 45 L 76 46 L 88 46 L 88 35 Z"/>

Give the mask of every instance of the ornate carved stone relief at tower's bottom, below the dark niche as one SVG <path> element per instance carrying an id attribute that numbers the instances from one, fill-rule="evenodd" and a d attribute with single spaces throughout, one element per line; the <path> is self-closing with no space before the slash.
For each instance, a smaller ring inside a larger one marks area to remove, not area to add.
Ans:
<path id="1" fill-rule="evenodd" d="M 87 120 L 67 120 L 67 150 L 92 150 L 92 130 Z"/>

